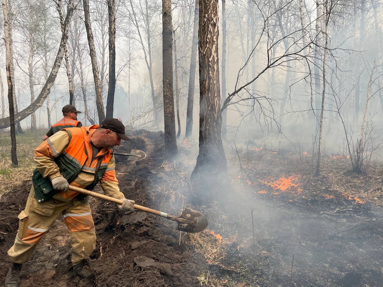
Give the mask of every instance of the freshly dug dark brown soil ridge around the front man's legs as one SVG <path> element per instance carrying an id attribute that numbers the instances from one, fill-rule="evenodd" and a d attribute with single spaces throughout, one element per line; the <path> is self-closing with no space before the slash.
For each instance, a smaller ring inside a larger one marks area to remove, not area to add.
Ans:
<path id="1" fill-rule="evenodd" d="M 164 135 L 146 130 L 129 134 L 116 152 L 141 149 L 148 157 L 127 162 L 116 158 L 116 174 L 121 191 L 137 204 L 156 208 L 151 183 L 162 169 Z M 150 182 L 149 179 L 150 178 Z M 18 219 L 28 197 L 31 181 L 0 198 L 0 280 L 9 266 L 7 250 L 15 238 Z M 100 187 L 95 191 L 101 192 Z M 96 250 L 87 254 L 92 279 L 72 275 L 69 232 L 62 217 L 43 237 L 30 260 L 23 264 L 24 286 L 198 286 L 198 275 L 206 266 L 204 258 L 184 244 L 169 220 L 134 211 L 123 214 L 115 204 L 90 198 L 97 233 Z M 165 208 L 162 206 L 162 208 Z M 167 212 L 168 210 L 164 210 Z"/>

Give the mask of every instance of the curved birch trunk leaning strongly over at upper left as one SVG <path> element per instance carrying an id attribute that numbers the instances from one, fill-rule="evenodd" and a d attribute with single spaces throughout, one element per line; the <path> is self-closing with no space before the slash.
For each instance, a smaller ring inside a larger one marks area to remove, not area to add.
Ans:
<path id="1" fill-rule="evenodd" d="M 47 78 L 43 88 L 41 89 L 39 96 L 34 100 L 34 102 L 31 103 L 25 109 L 23 109 L 20 113 L 15 114 L 15 122 L 20 122 L 21 120 L 25 119 L 30 114 L 32 114 L 34 111 L 36 111 L 38 108 L 40 108 L 43 105 L 47 96 L 49 95 L 52 85 L 54 84 L 54 80 L 56 80 L 57 73 L 61 66 L 62 58 L 64 57 L 63 45 L 64 45 L 64 41 L 66 42 L 68 38 L 69 23 L 70 23 L 70 19 L 72 18 L 73 8 L 74 8 L 73 0 L 69 0 L 68 7 L 67 7 L 67 15 L 65 17 L 65 33 L 61 37 L 59 51 L 57 52 L 56 59 L 54 60 L 53 67 L 52 67 L 51 73 L 49 74 L 49 77 Z M 9 117 L 6 117 L 0 120 L 0 129 L 4 129 L 9 126 L 10 126 Z"/>

